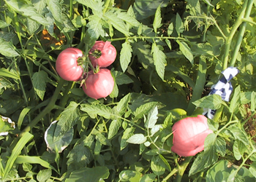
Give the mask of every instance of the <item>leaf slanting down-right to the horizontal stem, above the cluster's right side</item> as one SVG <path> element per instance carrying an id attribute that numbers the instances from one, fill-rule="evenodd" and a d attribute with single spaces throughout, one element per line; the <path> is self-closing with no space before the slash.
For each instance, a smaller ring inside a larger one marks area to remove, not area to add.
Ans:
<path id="1" fill-rule="evenodd" d="M 124 33 L 125 36 L 129 36 L 129 29 L 127 29 L 126 24 L 118 17 L 118 15 L 112 11 L 108 11 L 105 13 L 104 17 L 108 23 L 111 23 L 111 25 L 116 28 L 116 30 Z"/>

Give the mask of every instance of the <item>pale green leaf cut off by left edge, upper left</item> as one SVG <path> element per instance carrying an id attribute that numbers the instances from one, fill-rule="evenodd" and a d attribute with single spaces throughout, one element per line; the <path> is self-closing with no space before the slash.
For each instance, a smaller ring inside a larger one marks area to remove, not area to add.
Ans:
<path id="1" fill-rule="evenodd" d="M 18 52 L 15 51 L 15 47 L 13 46 L 11 41 L 4 41 L 4 39 L 2 38 L 0 38 L 0 54 L 6 57 L 16 57 L 20 55 Z"/>

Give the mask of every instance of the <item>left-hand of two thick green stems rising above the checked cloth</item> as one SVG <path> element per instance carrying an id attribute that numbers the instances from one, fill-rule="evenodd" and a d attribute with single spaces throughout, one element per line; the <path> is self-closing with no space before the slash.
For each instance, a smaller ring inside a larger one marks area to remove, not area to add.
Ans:
<path id="1" fill-rule="evenodd" d="M 248 2 L 248 0 L 244 1 L 242 11 L 241 11 L 240 15 L 238 16 L 238 19 L 236 20 L 236 23 L 233 25 L 233 28 L 231 29 L 229 36 L 227 36 L 227 39 L 226 39 L 226 42 L 225 42 L 225 52 L 224 52 L 224 57 L 223 57 L 223 66 L 222 66 L 223 70 L 225 70 L 227 68 L 228 55 L 230 53 L 231 42 L 232 42 L 233 36 L 235 35 L 237 29 L 239 28 L 239 26 L 243 22 L 242 19 L 244 18 L 244 14 L 245 14 L 246 7 L 247 7 L 247 2 Z"/>

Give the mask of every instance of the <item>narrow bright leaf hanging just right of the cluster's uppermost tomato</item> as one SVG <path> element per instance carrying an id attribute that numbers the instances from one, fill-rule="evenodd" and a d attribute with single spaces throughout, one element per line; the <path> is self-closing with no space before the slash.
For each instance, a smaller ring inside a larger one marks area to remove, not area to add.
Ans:
<path id="1" fill-rule="evenodd" d="M 129 62 L 131 62 L 132 58 L 132 46 L 128 41 L 125 41 L 122 44 L 121 52 L 120 52 L 120 64 L 123 72 L 127 70 Z"/>

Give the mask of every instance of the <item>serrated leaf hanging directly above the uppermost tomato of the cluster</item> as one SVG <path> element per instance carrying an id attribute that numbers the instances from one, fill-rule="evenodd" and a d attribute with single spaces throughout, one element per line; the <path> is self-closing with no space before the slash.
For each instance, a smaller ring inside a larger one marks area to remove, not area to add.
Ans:
<path id="1" fill-rule="evenodd" d="M 88 28 L 87 33 L 88 37 L 93 40 L 97 40 L 99 36 L 104 36 L 104 29 L 102 28 L 102 19 L 98 15 L 89 16 L 89 23 L 86 27 Z"/>

